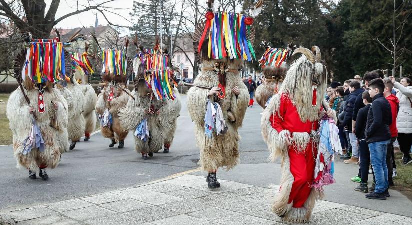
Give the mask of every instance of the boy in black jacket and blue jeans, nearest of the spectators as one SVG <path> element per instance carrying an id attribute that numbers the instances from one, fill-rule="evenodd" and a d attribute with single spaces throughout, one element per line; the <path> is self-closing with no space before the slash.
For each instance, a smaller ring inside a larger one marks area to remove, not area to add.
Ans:
<path id="1" fill-rule="evenodd" d="M 386 150 L 391 139 L 389 125 L 392 123 L 391 106 L 384 97 L 385 84 L 382 79 L 373 79 L 368 83 L 372 105 L 368 111 L 365 128 L 366 142 L 371 156 L 375 175 L 375 191 L 365 195 L 369 199 L 386 200 L 388 192 L 388 168 Z"/>

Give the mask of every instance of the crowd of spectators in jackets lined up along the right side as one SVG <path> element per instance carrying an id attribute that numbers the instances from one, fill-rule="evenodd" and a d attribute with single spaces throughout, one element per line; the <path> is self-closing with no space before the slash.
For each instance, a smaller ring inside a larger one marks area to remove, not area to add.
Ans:
<path id="1" fill-rule="evenodd" d="M 397 175 L 394 151 L 403 153 L 403 165 L 412 163 L 411 79 L 384 78 L 381 70 L 356 75 L 343 85 L 333 81 L 325 99 L 336 111 L 339 138 L 346 164 L 359 164 L 356 191 L 366 198 L 385 200 Z M 370 169 L 371 167 L 371 169 Z M 372 185 L 368 188 L 368 176 Z M 370 191 L 370 193 L 368 193 Z"/>

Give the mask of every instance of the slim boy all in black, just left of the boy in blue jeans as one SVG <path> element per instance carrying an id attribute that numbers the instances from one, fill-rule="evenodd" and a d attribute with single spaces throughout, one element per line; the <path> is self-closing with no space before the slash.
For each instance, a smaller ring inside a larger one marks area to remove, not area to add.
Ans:
<path id="1" fill-rule="evenodd" d="M 362 100 L 365 106 L 359 109 L 355 124 L 355 135 L 358 140 L 360 156 L 359 166 L 361 168 L 361 182 L 359 183 L 359 186 L 355 187 L 355 190 L 368 193 L 368 170 L 370 164 L 370 155 L 368 144 L 366 143 L 365 139 L 365 127 L 366 120 L 368 118 L 368 111 L 372 104 L 372 98 L 369 95 L 368 91 L 364 91 L 362 93 Z"/>

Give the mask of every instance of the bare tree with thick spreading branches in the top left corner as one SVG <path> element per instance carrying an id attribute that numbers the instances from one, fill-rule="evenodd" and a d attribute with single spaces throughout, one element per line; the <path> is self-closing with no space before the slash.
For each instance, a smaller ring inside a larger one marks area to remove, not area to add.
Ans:
<path id="1" fill-rule="evenodd" d="M 115 10 L 121 8 L 106 6 L 114 1 L 117 0 L 105 0 L 92 5 L 92 0 L 82 0 L 80 2 L 77 0 L 75 11 L 56 18 L 60 0 L 52 0 L 48 11 L 46 11 L 45 0 L 0 0 L 0 16 L 12 21 L 21 32 L 30 32 L 36 38 L 47 38 L 57 23 L 72 15 L 90 10 L 100 12 L 110 25 L 119 26 L 111 23 L 106 16 L 106 13 L 113 13 L 124 18 L 121 14 L 115 12 Z M 21 14 L 25 16 L 25 19 L 16 12 L 22 12 Z"/>

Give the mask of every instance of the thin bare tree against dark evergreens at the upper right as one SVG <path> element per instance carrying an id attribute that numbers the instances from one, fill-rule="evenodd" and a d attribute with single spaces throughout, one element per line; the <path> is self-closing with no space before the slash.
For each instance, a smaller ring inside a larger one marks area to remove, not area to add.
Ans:
<path id="1" fill-rule="evenodd" d="M 400 43 L 400 40 L 402 40 L 403 38 L 406 38 L 405 36 L 403 36 L 403 31 L 404 31 L 405 25 L 407 25 L 408 23 L 408 18 L 412 14 L 411 10 L 409 11 L 405 10 L 404 8 L 405 4 L 407 4 L 406 1 L 402 2 L 398 7 L 396 7 L 395 0 L 394 0 L 394 7 L 392 11 L 392 25 L 393 25 L 392 38 L 388 38 L 390 45 L 386 46 L 379 40 L 379 37 L 376 38 L 376 40 L 378 41 L 378 43 L 381 44 L 382 47 L 384 47 L 387 51 L 391 52 L 391 57 L 393 59 L 393 62 L 389 64 L 393 66 L 392 76 L 395 76 L 395 73 L 398 67 L 406 61 L 406 60 L 400 61 L 402 54 L 405 51 L 411 52 L 409 49 L 406 48 L 405 43 L 403 46 Z"/>

